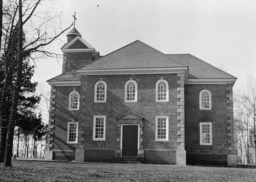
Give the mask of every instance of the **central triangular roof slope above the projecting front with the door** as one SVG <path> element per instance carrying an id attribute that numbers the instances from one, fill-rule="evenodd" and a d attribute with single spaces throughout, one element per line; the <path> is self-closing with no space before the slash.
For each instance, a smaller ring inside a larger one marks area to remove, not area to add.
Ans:
<path id="1" fill-rule="evenodd" d="M 80 71 L 92 69 L 122 68 L 161 68 L 186 67 L 151 46 L 136 40 L 123 48 L 117 49 L 97 60 L 79 68 Z"/>

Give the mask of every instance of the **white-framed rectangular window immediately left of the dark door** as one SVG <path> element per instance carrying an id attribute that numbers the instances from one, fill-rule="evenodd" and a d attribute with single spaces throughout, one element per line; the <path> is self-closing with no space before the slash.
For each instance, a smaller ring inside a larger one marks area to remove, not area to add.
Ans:
<path id="1" fill-rule="evenodd" d="M 93 116 L 93 140 L 105 140 L 106 116 Z"/>

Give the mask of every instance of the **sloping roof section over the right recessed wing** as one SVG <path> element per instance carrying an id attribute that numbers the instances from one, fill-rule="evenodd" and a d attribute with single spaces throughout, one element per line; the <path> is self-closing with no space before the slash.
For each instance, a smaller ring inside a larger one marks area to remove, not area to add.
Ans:
<path id="1" fill-rule="evenodd" d="M 189 79 L 236 79 L 229 73 L 200 60 L 191 54 L 167 54 L 189 67 Z"/>

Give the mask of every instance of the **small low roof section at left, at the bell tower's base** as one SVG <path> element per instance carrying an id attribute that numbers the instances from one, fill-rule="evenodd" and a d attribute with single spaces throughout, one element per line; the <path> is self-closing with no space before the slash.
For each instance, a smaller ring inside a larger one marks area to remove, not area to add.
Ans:
<path id="1" fill-rule="evenodd" d="M 52 79 L 47 80 L 47 82 L 54 82 L 54 81 L 80 81 L 80 73 L 73 69 L 69 72 L 62 73 Z"/>

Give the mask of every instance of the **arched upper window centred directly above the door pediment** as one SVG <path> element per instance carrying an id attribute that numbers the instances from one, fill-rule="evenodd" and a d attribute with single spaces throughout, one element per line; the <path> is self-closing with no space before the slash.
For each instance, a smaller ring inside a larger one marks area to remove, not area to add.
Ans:
<path id="1" fill-rule="evenodd" d="M 125 102 L 137 102 L 137 84 L 134 80 L 129 80 L 126 83 Z"/>

